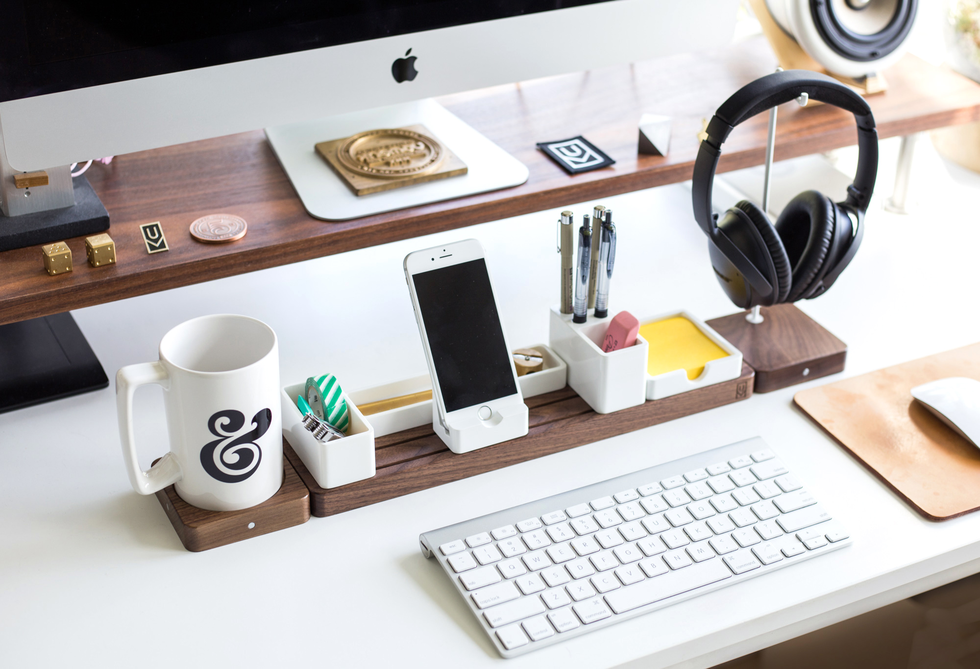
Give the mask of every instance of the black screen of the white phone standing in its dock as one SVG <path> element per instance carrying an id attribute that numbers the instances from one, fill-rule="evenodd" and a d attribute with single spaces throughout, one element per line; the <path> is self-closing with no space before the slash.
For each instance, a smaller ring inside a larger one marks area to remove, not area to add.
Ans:
<path id="1" fill-rule="evenodd" d="M 413 280 L 446 411 L 514 395 L 511 354 L 483 259 Z"/>

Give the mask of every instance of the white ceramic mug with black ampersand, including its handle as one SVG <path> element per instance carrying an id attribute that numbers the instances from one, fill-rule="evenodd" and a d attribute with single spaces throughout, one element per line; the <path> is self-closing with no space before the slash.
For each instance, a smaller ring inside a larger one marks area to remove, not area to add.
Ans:
<path id="1" fill-rule="evenodd" d="M 171 452 L 139 468 L 132 396 L 164 387 Z M 233 511 L 265 502 L 282 485 L 279 346 L 269 325 L 232 314 L 180 323 L 160 342 L 160 361 L 116 374 L 123 457 L 133 489 L 152 495 L 174 484 L 182 500 Z"/>

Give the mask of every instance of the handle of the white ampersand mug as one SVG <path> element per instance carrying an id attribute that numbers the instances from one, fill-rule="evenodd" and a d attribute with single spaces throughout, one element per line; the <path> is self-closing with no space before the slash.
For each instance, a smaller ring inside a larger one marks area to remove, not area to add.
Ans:
<path id="1" fill-rule="evenodd" d="M 120 420 L 120 440 L 123 442 L 123 458 L 132 489 L 140 495 L 153 495 L 183 478 L 180 463 L 174 454 L 168 453 L 160 461 L 143 471 L 136 458 L 136 442 L 132 433 L 132 396 L 136 389 L 148 383 L 156 383 L 165 389 L 171 385 L 167 369 L 160 362 L 129 364 L 116 372 L 116 411 Z"/>

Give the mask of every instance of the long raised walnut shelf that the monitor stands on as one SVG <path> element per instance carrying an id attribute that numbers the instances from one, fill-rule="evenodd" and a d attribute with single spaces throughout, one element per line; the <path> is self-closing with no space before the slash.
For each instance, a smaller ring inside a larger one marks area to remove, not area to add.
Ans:
<path id="1" fill-rule="evenodd" d="M 707 54 L 617 66 L 497 86 L 439 99 L 447 109 L 530 169 L 523 185 L 371 215 L 324 222 L 307 215 L 261 131 L 118 156 L 86 172 L 112 217 L 112 267 L 48 276 L 35 248 L 0 254 L 0 323 L 78 309 L 361 249 L 488 220 L 564 207 L 691 178 L 702 119 L 743 84 L 772 72 L 761 37 Z M 886 72 L 889 90 L 868 98 L 881 137 L 980 119 L 980 85 L 906 56 Z M 637 154 L 643 112 L 673 119 L 666 157 Z M 780 111 L 776 159 L 854 144 L 853 118 L 826 105 Z M 568 175 L 535 143 L 584 134 L 616 164 Z M 719 171 L 763 162 L 766 116 L 736 128 Z M 312 148 L 311 148 L 312 150 Z M 207 245 L 187 228 L 201 215 L 249 222 L 240 241 Z M 139 225 L 159 220 L 171 250 L 148 255 Z M 81 238 L 67 240 L 74 254 Z"/>

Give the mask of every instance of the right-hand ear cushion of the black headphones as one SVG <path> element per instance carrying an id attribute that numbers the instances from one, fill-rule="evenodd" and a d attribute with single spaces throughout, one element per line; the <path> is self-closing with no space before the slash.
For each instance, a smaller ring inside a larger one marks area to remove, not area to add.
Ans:
<path id="1" fill-rule="evenodd" d="M 796 302 L 809 290 L 827 260 L 834 238 L 834 203 L 819 191 L 796 196 L 776 219 L 775 230 L 792 267 L 793 286 L 786 302 Z"/>

